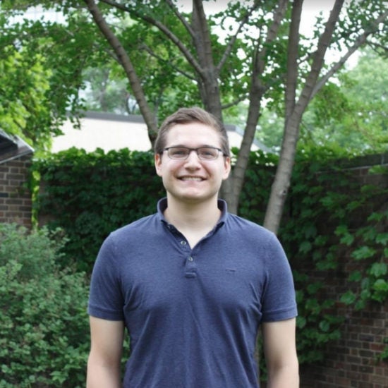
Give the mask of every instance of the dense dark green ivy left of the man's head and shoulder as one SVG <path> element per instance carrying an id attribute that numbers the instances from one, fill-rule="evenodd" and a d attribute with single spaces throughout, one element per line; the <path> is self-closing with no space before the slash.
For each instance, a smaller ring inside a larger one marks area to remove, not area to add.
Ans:
<path id="1" fill-rule="evenodd" d="M 49 215 L 49 227 L 66 231 L 66 260 L 90 273 L 98 249 L 120 226 L 156 211 L 164 195 L 154 172 L 151 152 L 103 150 L 87 153 L 72 148 L 35 162 L 44 188 L 37 212 Z M 61 264 L 66 266 L 66 260 Z"/>

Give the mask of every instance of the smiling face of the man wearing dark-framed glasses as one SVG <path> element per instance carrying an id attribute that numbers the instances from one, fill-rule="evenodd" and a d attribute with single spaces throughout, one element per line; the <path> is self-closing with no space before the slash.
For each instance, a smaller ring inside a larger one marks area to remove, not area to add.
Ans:
<path id="1" fill-rule="evenodd" d="M 201 123 L 177 124 L 166 133 L 166 147 L 221 147 L 220 135 Z M 167 198 L 204 202 L 217 198 L 222 181 L 229 176 L 229 157 L 219 152 L 215 160 L 200 160 L 195 151 L 186 160 L 171 159 L 166 151 L 155 155 L 157 174 L 162 177 Z"/>

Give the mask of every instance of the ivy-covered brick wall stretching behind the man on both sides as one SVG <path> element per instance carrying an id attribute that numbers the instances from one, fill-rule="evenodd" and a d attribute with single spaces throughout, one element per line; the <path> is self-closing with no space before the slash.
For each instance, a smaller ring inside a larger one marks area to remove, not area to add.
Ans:
<path id="1" fill-rule="evenodd" d="M 387 378 L 388 155 L 298 154 L 279 238 L 296 281 L 301 387 L 380 388 Z M 385 158 L 385 159 L 384 159 Z M 164 196 L 148 152 L 69 150 L 35 163 L 38 218 L 66 231 L 62 265 L 90 272 L 113 229 Z M 277 164 L 253 152 L 239 214 L 262 223 Z"/>

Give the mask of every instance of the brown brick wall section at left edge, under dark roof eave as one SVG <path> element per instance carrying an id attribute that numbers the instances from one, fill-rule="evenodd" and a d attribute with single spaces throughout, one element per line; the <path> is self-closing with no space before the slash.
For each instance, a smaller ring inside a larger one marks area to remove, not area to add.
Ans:
<path id="1" fill-rule="evenodd" d="M 26 188 L 32 154 L 0 164 L 0 222 L 31 227 L 32 199 Z"/>

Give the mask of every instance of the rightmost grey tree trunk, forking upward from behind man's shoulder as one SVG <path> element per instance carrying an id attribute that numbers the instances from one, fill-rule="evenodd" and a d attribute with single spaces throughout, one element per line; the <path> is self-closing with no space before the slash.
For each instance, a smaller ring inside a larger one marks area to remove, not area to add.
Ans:
<path id="1" fill-rule="evenodd" d="M 366 3 L 366 1 L 364 3 Z M 384 21 L 386 22 L 388 15 L 387 10 L 382 8 L 383 11 L 381 11 L 377 18 L 375 18 L 376 10 L 373 8 L 373 4 L 369 4 L 370 7 L 366 8 L 365 11 L 371 12 L 372 17 L 370 20 L 368 20 L 368 23 L 365 25 L 363 32 L 361 32 L 359 35 L 356 35 L 356 37 L 353 37 L 351 41 L 353 42 L 352 44 L 349 44 L 350 42 L 346 42 L 348 47 L 346 54 L 344 54 L 344 56 L 342 56 L 337 63 L 334 63 L 334 65 L 332 65 L 329 70 L 324 73 L 324 75 L 320 76 L 321 71 L 324 70 L 324 59 L 327 52 L 327 47 L 329 47 L 334 37 L 336 37 L 336 25 L 340 25 L 341 29 L 351 25 L 350 20 L 346 23 L 340 23 L 340 13 L 342 7 L 344 6 L 344 1 L 336 0 L 334 2 L 332 11 L 330 12 L 327 23 L 325 24 L 325 30 L 322 32 L 318 39 L 316 51 L 311 57 L 310 70 L 308 71 L 304 85 L 300 90 L 300 95 L 297 96 L 298 72 L 296 69 L 298 68 L 299 60 L 298 31 L 302 4 L 303 1 L 295 1 L 292 8 L 291 24 L 289 29 L 289 46 L 287 57 L 288 63 L 285 88 L 284 137 L 283 143 L 281 145 L 277 174 L 274 178 L 274 183 L 272 183 L 272 190 L 265 216 L 265 226 L 267 226 L 269 229 L 272 229 L 273 231 L 277 231 L 279 228 L 284 201 L 286 199 L 289 183 L 291 181 L 291 172 L 293 162 L 295 160 L 299 128 L 305 109 L 308 107 L 308 104 L 322 88 L 322 86 L 327 83 L 327 80 L 329 80 L 329 78 L 346 62 L 348 57 L 353 54 L 356 49 L 365 44 L 372 32 L 379 31 L 379 24 Z M 351 6 L 349 6 L 349 10 L 353 11 L 352 13 L 355 11 L 355 8 L 352 8 L 354 6 L 356 6 L 356 4 L 351 4 Z M 346 32 L 346 35 L 351 35 L 351 30 Z M 341 43 L 341 40 L 337 41 L 337 43 Z"/>

